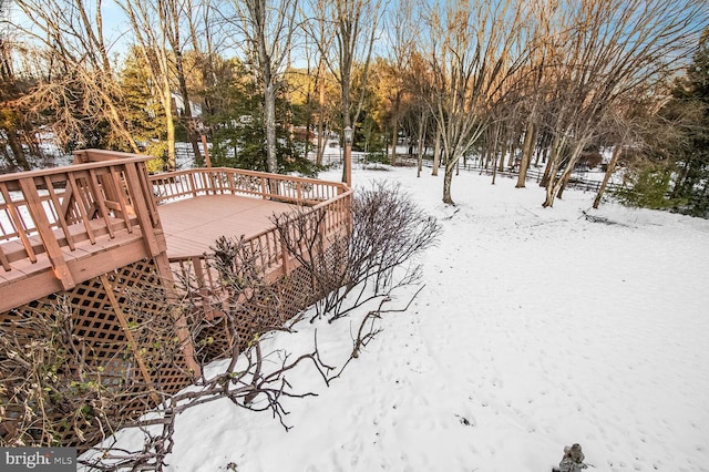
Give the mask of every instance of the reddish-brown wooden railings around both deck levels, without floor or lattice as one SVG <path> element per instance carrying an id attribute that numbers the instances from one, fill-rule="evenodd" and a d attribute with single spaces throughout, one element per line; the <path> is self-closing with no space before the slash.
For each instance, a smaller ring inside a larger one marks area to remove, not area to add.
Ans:
<path id="1" fill-rule="evenodd" d="M 0 176 L 0 287 L 42 266 L 51 267 L 60 288 L 70 289 L 82 281 L 72 274 L 71 260 L 126 233 L 143 239 L 143 257 L 155 256 L 165 250 L 158 205 L 182 198 L 226 194 L 300 205 L 305 208 L 294 213 L 290 223 L 322 215 L 325 239 L 351 225 L 352 191 L 345 184 L 235 168 L 148 176 L 147 160 L 86 150 L 74 153 L 71 166 Z M 269 280 L 292 270 L 292 255 L 275 227 L 245 243 Z M 178 277 L 192 274 L 202 290 L 219 291 L 204 254 L 169 263 Z M 4 305 L 0 308 L 12 308 Z"/>

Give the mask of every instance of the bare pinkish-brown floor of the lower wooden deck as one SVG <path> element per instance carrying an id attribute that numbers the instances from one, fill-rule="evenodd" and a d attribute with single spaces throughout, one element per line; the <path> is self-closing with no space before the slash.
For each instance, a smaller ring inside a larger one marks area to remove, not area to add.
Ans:
<path id="1" fill-rule="evenodd" d="M 295 205 L 239 195 L 207 195 L 157 207 L 169 258 L 199 256 L 219 236 L 250 239 L 274 226 L 274 214 L 294 209 Z"/>

